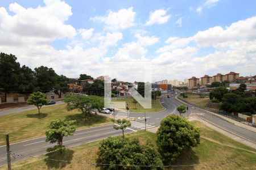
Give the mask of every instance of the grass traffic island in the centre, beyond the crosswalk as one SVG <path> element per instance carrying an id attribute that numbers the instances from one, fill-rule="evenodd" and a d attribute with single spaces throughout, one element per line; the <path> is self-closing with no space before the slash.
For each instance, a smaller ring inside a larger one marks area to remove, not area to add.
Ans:
<path id="1" fill-rule="evenodd" d="M 112 99 L 112 101 L 125 101 L 126 104 L 129 105 L 131 112 L 159 112 L 163 111 L 163 107 L 160 104 L 160 100 L 156 99 L 155 102 L 152 100 L 152 108 L 151 109 L 144 109 L 139 103 L 136 105 L 132 102 L 133 98 L 123 98 L 123 99 Z"/>

